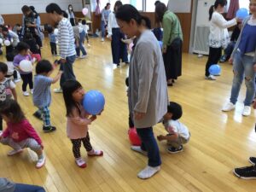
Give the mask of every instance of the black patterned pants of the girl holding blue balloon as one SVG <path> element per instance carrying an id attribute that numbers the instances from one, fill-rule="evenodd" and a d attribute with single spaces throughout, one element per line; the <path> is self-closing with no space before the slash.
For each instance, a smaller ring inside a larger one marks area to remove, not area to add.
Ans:
<path id="1" fill-rule="evenodd" d="M 87 132 L 86 137 L 79 138 L 79 139 L 71 139 L 71 142 L 73 144 L 73 156 L 75 158 L 81 157 L 81 154 L 80 154 L 81 143 L 84 144 L 84 148 L 86 149 L 87 152 L 92 150 L 92 146 L 90 144 L 89 132 Z"/>

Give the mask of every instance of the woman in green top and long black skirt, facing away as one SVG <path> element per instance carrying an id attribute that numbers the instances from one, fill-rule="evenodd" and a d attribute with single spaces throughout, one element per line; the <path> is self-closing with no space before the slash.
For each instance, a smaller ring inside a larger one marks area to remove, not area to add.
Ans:
<path id="1" fill-rule="evenodd" d="M 172 86 L 174 79 L 182 74 L 183 32 L 177 15 L 167 10 L 165 3 L 156 3 L 155 16 L 164 29 L 163 58 L 167 84 Z"/>

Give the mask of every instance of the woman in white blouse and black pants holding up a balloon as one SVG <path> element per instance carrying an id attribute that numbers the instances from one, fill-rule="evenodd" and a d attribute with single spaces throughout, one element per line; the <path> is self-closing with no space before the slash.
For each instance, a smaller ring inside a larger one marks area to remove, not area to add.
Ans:
<path id="1" fill-rule="evenodd" d="M 227 28 L 236 25 L 236 19 L 227 21 L 222 15 L 226 4 L 226 0 L 216 0 L 214 5 L 209 9 L 209 56 L 205 72 L 205 79 L 207 80 L 216 80 L 216 78 L 209 73 L 209 68 L 218 63 L 222 48 L 226 48 L 230 43 L 230 35 Z"/>

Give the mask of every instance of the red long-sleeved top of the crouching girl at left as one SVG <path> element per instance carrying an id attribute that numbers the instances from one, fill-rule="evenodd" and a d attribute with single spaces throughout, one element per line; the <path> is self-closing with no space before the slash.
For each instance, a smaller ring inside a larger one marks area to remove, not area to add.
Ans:
<path id="1" fill-rule="evenodd" d="M 20 123 L 7 123 L 7 128 L 3 131 L 3 137 L 10 137 L 16 143 L 19 143 L 27 138 L 35 139 L 39 145 L 42 144 L 42 140 L 38 136 L 37 131 L 32 127 L 27 119 L 23 119 Z"/>

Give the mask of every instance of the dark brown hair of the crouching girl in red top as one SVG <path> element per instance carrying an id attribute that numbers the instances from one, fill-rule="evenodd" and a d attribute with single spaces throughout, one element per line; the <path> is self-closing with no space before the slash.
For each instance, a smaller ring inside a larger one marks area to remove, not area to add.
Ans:
<path id="1" fill-rule="evenodd" d="M 5 100 L 0 104 L 0 114 L 5 115 L 11 123 L 17 124 L 25 119 L 20 105 L 15 100 Z"/>

